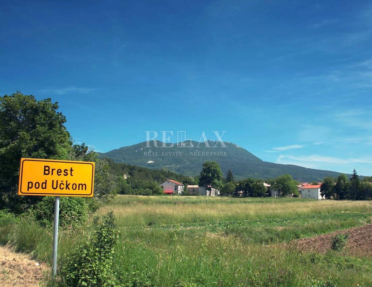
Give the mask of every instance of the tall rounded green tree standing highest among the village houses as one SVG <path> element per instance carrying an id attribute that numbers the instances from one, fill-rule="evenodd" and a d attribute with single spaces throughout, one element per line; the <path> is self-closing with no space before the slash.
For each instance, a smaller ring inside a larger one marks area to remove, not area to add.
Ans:
<path id="1" fill-rule="evenodd" d="M 211 195 L 212 188 L 221 186 L 222 171 L 216 161 L 206 161 L 203 163 L 202 171 L 200 172 L 199 185 L 209 190 Z"/>

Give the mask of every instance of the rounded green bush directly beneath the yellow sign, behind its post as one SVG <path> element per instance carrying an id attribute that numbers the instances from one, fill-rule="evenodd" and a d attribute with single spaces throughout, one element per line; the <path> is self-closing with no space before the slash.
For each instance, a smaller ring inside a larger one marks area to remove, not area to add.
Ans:
<path id="1" fill-rule="evenodd" d="M 45 196 L 35 207 L 35 218 L 43 226 L 53 225 L 54 196 Z M 59 226 L 76 227 L 86 223 L 89 205 L 83 197 L 60 197 Z M 92 208 L 93 209 L 93 208 Z"/>

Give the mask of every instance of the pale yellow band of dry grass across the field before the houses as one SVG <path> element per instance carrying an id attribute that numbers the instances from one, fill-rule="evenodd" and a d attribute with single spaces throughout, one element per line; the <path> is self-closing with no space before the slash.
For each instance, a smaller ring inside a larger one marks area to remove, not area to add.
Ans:
<path id="1" fill-rule="evenodd" d="M 113 210 L 119 226 L 138 226 L 155 220 L 158 224 L 177 224 L 210 220 L 248 220 L 332 212 L 372 212 L 369 201 L 240 199 L 224 197 L 141 197 L 123 196 L 100 209 Z"/>

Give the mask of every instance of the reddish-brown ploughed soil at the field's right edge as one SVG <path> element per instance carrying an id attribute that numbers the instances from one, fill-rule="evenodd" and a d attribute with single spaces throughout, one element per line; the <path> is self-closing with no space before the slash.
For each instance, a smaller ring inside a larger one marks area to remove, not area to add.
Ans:
<path id="1" fill-rule="evenodd" d="M 297 241 L 296 245 L 305 252 L 325 253 L 331 249 L 332 236 L 346 233 L 349 233 L 347 244 L 343 250 L 346 254 L 372 257 L 372 224 L 303 238 Z"/>

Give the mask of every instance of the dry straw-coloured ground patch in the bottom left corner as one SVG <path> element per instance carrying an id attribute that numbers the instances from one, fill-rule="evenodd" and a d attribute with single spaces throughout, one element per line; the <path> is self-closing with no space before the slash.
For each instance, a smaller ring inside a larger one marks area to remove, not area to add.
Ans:
<path id="1" fill-rule="evenodd" d="M 31 260 L 26 254 L 15 253 L 6 246 L 0 246 L 0 284 L 10 286 L 41 286 L 49 267 Z"/>

